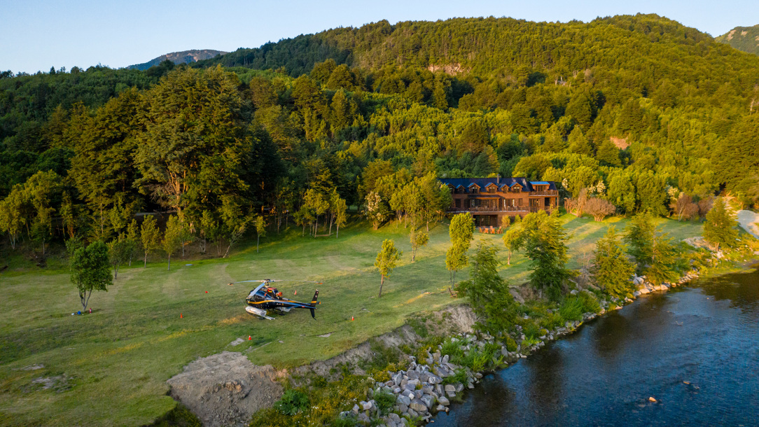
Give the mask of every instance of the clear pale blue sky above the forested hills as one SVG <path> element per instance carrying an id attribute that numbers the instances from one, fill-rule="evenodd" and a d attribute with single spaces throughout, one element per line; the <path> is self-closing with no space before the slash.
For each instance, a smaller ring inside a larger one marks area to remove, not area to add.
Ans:
<path id="1" fill-rule="evenodd" d="M 759 24 L 757 0 L 379 0 L 267 2 L 241 0 L 0 0 L 0 71 L 49 71 L 74 65 L 111 68 L 150 61 L 168 52 L 231 52 L 268 41 L 360 27 L 378 20 L 514 17 L 582 20 L 656 13 L 719 36 Z"/>

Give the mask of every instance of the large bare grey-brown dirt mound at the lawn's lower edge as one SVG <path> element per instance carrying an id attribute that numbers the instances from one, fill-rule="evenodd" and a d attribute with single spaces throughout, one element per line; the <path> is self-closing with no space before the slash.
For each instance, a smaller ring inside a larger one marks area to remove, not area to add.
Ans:
<path id="1" fill-rule="evenodd" d="M 270 365 L 255 366 L 243 354 L 225 351 L 197 359 L 167 382 L 171 396 L 203 425 L 247 425 L 254 412 L 282 396 L 275 381 L 280 375 Z"/>

